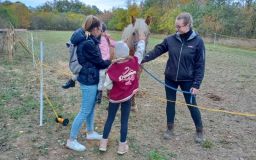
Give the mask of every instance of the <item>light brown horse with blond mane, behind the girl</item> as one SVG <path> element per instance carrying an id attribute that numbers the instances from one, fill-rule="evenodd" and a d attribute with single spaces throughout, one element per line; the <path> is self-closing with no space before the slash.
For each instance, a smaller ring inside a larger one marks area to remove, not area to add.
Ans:
<path id="1" fill-rule="evenodd" d="M 122 33 L 122 40 L 125 41 L 130 49 L 130 56 L 133 56 L 135 53 L 136 46 L 139 41 L 139 35 L 145 34 L 146 36 L 146 46 L 148 44 L 148 38 L 150 35 L 149 31 L 149 24 L 150 24 L 151 18 L 148 16 L 145 20 L 141 18 L 134 18 L 132 16 L 132 23 L 129 24 L 127 27 L 124 28 L 124 31 Z M 140 72 L 141 73 L 141 72 Z M 140 73 L 138 76 L 140 77 Z M 137 111 L 137 105 L 135 101 L 135 96 L 131 99 L 132 103 L 132 111 Z"/>

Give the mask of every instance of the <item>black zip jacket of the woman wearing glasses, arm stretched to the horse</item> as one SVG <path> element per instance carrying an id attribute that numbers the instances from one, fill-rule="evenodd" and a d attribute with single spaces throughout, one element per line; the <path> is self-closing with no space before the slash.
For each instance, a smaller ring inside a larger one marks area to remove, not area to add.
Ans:
<path id="1" fill-rule="evenodd" d="M 186 39 L 179 33 L 170 35 L 155 46 L 141 63 L 151 61 L 168 52 L 165 78 L 172 81 L 193 81 L 192 87 L 199 89 L 205 70 L 205 47 L 201 37 L 194 31 Z"/>

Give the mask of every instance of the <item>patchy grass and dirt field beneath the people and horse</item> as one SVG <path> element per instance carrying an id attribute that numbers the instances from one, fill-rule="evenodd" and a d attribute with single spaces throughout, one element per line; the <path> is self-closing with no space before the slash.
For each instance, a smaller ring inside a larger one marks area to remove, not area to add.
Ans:
<path id="1" fill-rule="evenodd" d="M 107 153 L 98 151 L 98 142 L 85 141 L 81 130 L 79 140 L 88 148 L 77 153 L 64 147 L 69 136 L 70 124 L 79 111 L 80 91 L 77 87 L 63 90 L 61 85 L 69 78 L 68 52 L 65 42 L 72 32 L 38 31 L 20 35 L 31 46 L 34 36 L 35 54 L 39 43 L 44 42 L 44 82 L 53 108 L 45 101 L 44 126 L 39 127 L 39 70 L 32 64 L 32 56 L 20 45 L 13 62 L 0 55 L 0 159 L 256 159 L 256 117 L 244 117 L 202 110 L 207 140 L 193 142 L 194 127 L 188 110 L 177 105 L 176 136 L 171 141 L 162 138 L 165 130 L 164 88 L 142 74 L 141 92 L 138 97 L 139 112 L 132 113 L 128 134 L 130 151 L 124 156 L 116 154 L 119 137 L 120 114 L 110 135 Z M 120 32 L 111 32 L 119 40 Z M 163 39 L 151 35 L 148 50 Z M 256 52 L 225 46 L 206 44 L 206 74 L 198 96 L 201 106 L 219 110 L 256 114 Z M 161 80 L 167 55 L 145 65 Z M 183 97 L 178 96 L 183 102 Z M 96 130 L 102 132 L 106 106 L 96 108 Z M 55 122 L 53 109 L 70 120 L 64 127 Z"/>

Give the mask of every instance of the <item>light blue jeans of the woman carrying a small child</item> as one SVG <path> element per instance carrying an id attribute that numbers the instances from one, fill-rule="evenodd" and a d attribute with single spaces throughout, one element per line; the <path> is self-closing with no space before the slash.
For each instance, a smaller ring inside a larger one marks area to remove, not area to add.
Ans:
<path id="1" fill-rule="evenodd" d="M 86 122 L 88 132 L 94 131 L 94 107 L 97 94 L 97 85 L 83 85 L 80 83 L 82 92 L 82 104 L 80 112 L 76 115 L 71 127 L 70 139 L 76 139 L 82 127 L 83 122 Z"/>

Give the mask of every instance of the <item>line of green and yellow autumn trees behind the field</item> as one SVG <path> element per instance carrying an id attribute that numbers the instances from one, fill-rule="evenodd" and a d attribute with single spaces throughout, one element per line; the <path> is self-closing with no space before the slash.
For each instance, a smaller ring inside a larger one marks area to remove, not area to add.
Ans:
<path id="1" fill-rule="evenodd" d="M 256 0 L 127 0 L 127 9 L 101 12 L 95 5 L 80 0 L 53 0 L 29 10 L 20 2 L 0 1 L 0 27 L 11 22 L 15 27 L 30 29 L 73 30 L 80 27 L 85 15 L 102 19 L 109 29 L 122 30 L 130 16 L 152 17 L 152 32 L 173 33 L 180 12 L 193 16 L 194 29 L 202 33 L 256 38 Z"/>

